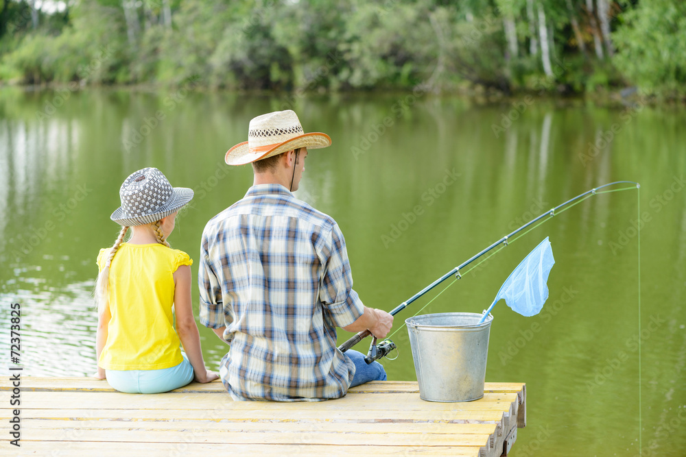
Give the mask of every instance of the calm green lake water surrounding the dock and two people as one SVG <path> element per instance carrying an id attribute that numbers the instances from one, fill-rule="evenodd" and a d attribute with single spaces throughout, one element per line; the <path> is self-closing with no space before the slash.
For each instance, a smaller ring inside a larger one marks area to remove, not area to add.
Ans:
<path id="1" fill-rule="evenodd" d="M 526 109 L 425 94 L 0 90 L 3 366 L 10 303 L 19 303 L 24 373 L 91 375 L 95 257 L 117 236 L 109 215 L 123 179 L 156 166 L 196 191 L 169 239 L 196 260 L 196 274 L 204 224 L 252 184 L 250 167 L 226 166 L 224 153 L 246 139 L 253 116 L 294 107 L 306 131 L 333 139 L 309 154 L 297 195 L 338 221 L 355 289 L 375 308 L 394 308 L 575 195 L 639 182 L 558 214 L 464 271 L 427 308 L 444 286 L 416 301 L 395 321 L 399 358 L 383 363 L 389 379 L 415 380 L 404 320 L 420 310 L 482 312 L 549 236 L 556 264 L 541 314 L 521 317 L 502 301 L 493 310 L 486 380 L 526 382 L 528 391 L 513 455 L 635 456 L 639 443 L 643 455 L 683 455 L 686 112 L 518 106 Z M 197 313 L 195 285 L 193 298 Z M 216 369 L 225 346 L 200 334 Z"/>

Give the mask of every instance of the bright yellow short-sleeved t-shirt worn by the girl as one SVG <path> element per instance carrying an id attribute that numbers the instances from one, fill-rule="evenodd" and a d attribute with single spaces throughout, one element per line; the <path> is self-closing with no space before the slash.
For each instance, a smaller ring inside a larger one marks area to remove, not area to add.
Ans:
<path id="1" fill-rule="evenodd" d="M 100 270 L 110 254 L 100 249 Z M 174 330 L 174 271 L 193 260 L 165 245 L 121 243 L 110 264 L 107 341 L 98 365 L 106 370 L 156 370 L 183 360 Z"/>

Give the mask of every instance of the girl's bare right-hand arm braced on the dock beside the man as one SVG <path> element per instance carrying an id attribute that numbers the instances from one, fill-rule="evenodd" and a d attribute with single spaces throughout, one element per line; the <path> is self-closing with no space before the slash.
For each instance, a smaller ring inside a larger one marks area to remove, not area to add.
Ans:
<path id="1" fill-rule="evenodd" d="M 193 306 L 191 306 L 191 267 L 181 265 L 174 271 L 174 310 L 176 312 L 176 332 L 181 340 L 183 349 L 186 351 L 189 362 L 193 365 L 193 373 L 196 381 L 210 382 L 219 378 L 217 373 L 209 371 L 202 360 L 200 349 L 200 334 L 196 319 L 193 319 Z"/>

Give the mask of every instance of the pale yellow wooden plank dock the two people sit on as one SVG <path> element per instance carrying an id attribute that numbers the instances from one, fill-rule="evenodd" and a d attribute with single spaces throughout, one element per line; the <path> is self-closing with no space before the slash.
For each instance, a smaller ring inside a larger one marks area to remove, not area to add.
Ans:
<path id="1" fill-rule="evenodd" d="M 218 381 L 136 395 L 88 378 L 22 378 L 17 448 L 8 378 L 0 390 L 3 455 L 497 457 L 526 424 L 521 383 L 487 382 L 484 398 L 463 403 L 425 402 L 416 382 L 394 381 L 327 402 L 274 403 L 233 402 Z"/>

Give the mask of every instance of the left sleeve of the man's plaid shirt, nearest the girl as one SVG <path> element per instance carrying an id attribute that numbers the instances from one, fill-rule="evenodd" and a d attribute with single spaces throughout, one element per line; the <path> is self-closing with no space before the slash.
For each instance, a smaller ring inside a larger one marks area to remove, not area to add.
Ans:
<path id="1" fill-rule="evenodd" d="M 209 258 L 208 240 L 205 234 L 200 242 L 200 266 L 198 267 L 198 288 L 200 289 L 200 323 L 209 328 L 222 328 L 224 304 L 222 286 Z"/>

